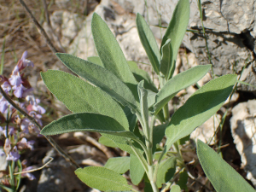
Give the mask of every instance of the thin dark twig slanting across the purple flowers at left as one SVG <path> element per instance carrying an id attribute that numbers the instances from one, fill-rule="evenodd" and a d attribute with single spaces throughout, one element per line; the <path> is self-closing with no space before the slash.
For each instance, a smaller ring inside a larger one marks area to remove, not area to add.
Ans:
<path id="1" fill-rule="evenodd" d="M 20 0 L 22 1 L 22 0 Z M 39 130 L 42 130 L 43 127 L 41 125 L 38 124 L 38 122 L 36 121 L 36 119 L 32 118 L 32 116 L 30 116 L 28 113 L 26 113 L 22 108 L 20 108 L 19 106 L 16 105 L 16 103 L 5 93 L 5 91 L 3 90 L 2 86 L 0 86 L 0 92 L 2 94 L 2 96 L 9 102 L 9 104 L 11 104 L 15 109 L 17 109 L 20 113 L 22 113 L 23 115 L 26 116 L 27 119 L 29 119 L 34 125 L 36 125 L 38 127 Z M 70 162 L 74 167 L 79 168 L 80 166 L 76 163 L 75 160 L 72 159 L 72 157 L 70 157 L 57 143 L 55 143 L 55 140 L 52 137 L 49 136 L 44 136 L 48 142 L 51 144 L 51 146 L 53 148 L 55 148 L 55 150 L 61 154 L 62 157 L 64 157 L 65 160 L 67 160 L 68 162 Z"/>

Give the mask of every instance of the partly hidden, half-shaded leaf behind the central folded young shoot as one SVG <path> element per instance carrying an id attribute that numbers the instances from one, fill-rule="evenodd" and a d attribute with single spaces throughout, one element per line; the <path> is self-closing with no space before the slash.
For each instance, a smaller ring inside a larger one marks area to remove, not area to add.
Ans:
<path id="1" fill-rule="evenodd" d="M 153 83 L 152 79 L 149 77 L 146 71 L 137 67 L 137 63 L 134 61 L 128 61 L 128 65 L 131 69 L 131 73 L 133 74 L 137 82 L 144 80 L 144 87 L 146 89 L 152 90 L 156 93 L 158 92 L 158 89 L 155 87 L 155 84 Z"/>

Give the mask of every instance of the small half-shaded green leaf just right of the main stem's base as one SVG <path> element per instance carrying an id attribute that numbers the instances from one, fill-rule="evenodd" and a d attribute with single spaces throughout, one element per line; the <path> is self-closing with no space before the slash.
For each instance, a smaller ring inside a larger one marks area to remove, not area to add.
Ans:
<path id="1" fill-rule="evenodd" d="M 159 170 L 157 172 L 156 184 L 160 188 L 163 183 L 167 183 L 176 171 L 176 158 L 170 157 L 167 160 L 160 162 Z"/>

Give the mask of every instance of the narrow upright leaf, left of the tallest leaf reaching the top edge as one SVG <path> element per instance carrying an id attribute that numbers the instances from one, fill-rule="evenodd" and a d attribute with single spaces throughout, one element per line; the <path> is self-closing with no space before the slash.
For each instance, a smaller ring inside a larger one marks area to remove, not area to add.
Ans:
<path id="1" fill-rule="evenodd" d="M 160 51 L 158 45 L 156 44 L 153 32 L 150 30 L 147 22 L 144 20 L 143 16 L 137 14 L 136 17 L 137 32 L 143 44 L 148 59 L 151 62 L 154 72 L 159 74 L 160 72 Z"/>

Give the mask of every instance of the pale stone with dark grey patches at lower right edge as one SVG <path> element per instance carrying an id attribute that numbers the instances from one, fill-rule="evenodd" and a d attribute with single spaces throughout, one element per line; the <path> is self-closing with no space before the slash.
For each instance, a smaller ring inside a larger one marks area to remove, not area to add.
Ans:
<path id="1" fill-rule="evenodd" d="M 256 185 L 256 100 L 241 102 L 232 109 L 231 133 L 241 155 L 241 166 L 247 179 Z"/>

